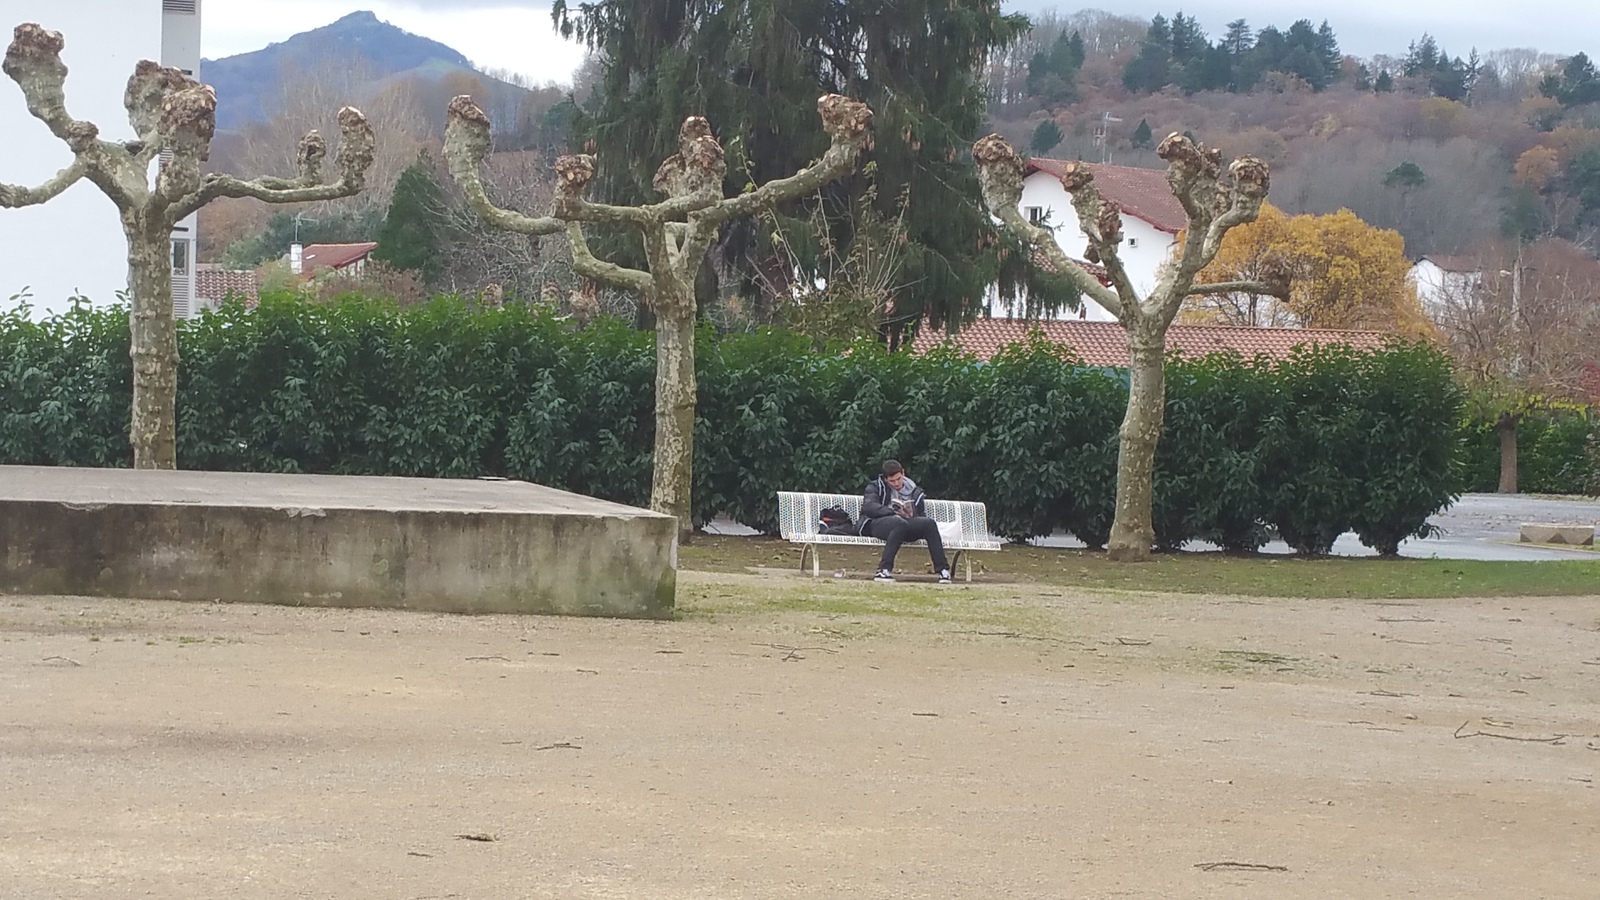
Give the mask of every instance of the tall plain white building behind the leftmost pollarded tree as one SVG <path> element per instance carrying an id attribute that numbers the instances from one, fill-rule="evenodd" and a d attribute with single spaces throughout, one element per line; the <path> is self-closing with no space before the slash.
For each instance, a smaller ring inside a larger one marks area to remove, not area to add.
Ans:
<path id="1" fill-rule="evenodd" d="M 134 136 L 122 106 L 139 59 L 190 74 L 200 69 L 200 0 L 3 0 L 5 43 L 11 29 L 37 22 L 61 32 L 67 64 L 67 110 L 93 122 L 107 141 Z M 38 186 L 72 163 L 72 151 L 27 112 L 22 91 L 0 77 L 0 181 Z M 154 178 L 154 170 L 152 170 Z M 190 315 L 195 216 L 173 231 L 173 307 Z M 128 287 L 128 243 L 117 207 L 99 187 L 78 181 L 37 207 L 0 210 L 0 303 L 27 293 L 35 312 L 62 311 L 72 296 L 114 303 Z"/>

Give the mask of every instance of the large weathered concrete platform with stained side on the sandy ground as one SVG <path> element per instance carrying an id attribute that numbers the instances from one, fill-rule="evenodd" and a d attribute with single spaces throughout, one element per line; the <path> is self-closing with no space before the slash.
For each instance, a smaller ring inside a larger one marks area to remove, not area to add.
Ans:
<path id="1" fill-rule="evenodd" d="M 514 480 L 0 466 L 0 591 L 666 618 L 670 516 Z"/>

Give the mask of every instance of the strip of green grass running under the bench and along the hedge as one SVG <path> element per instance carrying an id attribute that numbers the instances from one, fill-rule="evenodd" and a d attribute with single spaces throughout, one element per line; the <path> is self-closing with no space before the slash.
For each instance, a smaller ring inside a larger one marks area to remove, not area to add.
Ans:
<path id="1" fill-rule="evenodd" d="M 877 548 L 824 548 L 822 575 L 843 569 L 867 578 Z M 746 572 L 798 567 L 800 549 L 776 538 L 696 535 L 678 549 L 685 569 Z M 1152 562 L 1117 564 L 1104 552 L 1006 546 L 973 554 L 976 585 L 1037 583 L 1118 591 L 1238 594 L 1253 597 L 1526 597 L 1600 596 L 1600 559 L 1558 562 L 1478 562 L 1458 559 L 1296 559 L 1158 554 Z M 926 578 L 928 551 L 910 546 L 898 564 L 907 578 Z M 960 577 L 960 575 L 957 575 Z"/>

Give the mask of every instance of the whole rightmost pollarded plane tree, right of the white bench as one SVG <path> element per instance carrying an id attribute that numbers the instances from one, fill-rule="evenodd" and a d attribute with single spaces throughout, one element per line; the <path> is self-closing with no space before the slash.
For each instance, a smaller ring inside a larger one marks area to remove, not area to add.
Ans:
<path id="1" fill-rule="evenodd" d="M 1222 170 L 1218 151 L 1197 146 L 1182 135 L 1171 135 L 1157 149 L 1166 160 L 1166 183 L 1184 207 L 1189 227 L 1182 247 L 1166 261 L 1149 296 L 1141 298 L 1128 280 L 1117 247 L 1122 243 L 1122 213 L 1106 200 L 1094 176 L 1078 162 L 1067 163 L 1061 186 L 1072 197 L 1078 226 L 1088 237 L 1090 256 L 1106 267 L 1110 287 L 1102 285 L 1075 264 L 1056 243 L 1050 231 L 1029 223 L 1018 210 L 1022 197 L 1022 163 L 1016 151 L 998 135 L 973 146 L 984 203 L 1005 227 L 1011 229 L 1058 272 L 1067 272 L 1085 296 L 1110 311 L 1122 322 L 1128 341 L 1130 388 L 1128 412 L 1122 421 L 1117 453 L 1117 509 L 1107 549 L 1112 559 L 1144 560 L 1155 541 L 1152 524 L 1152 479 L 1155 445 L 1162 436 L 1166 404 L 1166 328 L 1173 323 L 1186 296 L 1216 293 L 1258 293 L 1285 296 L 1286 280 L 1237 280 L 1195 283 L 1200 269 L 1216 258 L 1229 229 L 1254 221 L 1267 195 L 1267 165 L 1253 157 L 1240 157 Z"/>

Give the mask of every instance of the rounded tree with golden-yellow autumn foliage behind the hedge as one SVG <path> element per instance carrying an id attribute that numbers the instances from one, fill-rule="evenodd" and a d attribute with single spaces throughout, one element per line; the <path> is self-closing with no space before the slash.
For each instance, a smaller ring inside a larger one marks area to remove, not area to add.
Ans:
<path id="1" fill-rule="evenodd" d="M 1406 336 L 1432 331 L 1406 279 L 1411 263 L 1400 232 L 1339 210 L 1290 216 L 1264 203 L 1261 216 L 1227 232 L 1202 282 L 1288 279 L 1288 298 L 1254 293 L 1195 295 L 1184 322 L 1219 325 L 1370 328 Z"/>

